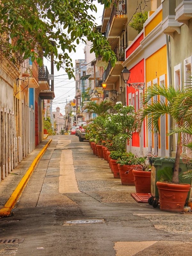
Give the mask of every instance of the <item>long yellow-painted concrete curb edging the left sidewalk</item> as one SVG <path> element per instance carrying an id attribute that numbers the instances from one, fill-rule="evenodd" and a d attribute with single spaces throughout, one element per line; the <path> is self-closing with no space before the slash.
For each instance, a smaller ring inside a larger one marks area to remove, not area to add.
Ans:
<path id="1" fill-rule="evenodd" d="M 23 178 L 21 179 L 20 183 L 18 184 L 17 188 L 13 191 L 12 195 L 4 205 L 4 208 L 0 209 L 0 217 L 6 217 L 11 214 L 11 210 L 13 209 L 15 203 L 19 199 L 21 192 L 25 188 L 32 172 L 34 171 L 36 164 L 39 162 L 39 159 L 44 154 L 45 150 L 51 143 L 52 139 L 50 139 L 47 144 L 44 146 L 44 148 L 39 152 L 39 154 L 36 156 L 36 158 L 33 160 L 33 163 L 30 165 L 28 171 L 25 173 Z"/>

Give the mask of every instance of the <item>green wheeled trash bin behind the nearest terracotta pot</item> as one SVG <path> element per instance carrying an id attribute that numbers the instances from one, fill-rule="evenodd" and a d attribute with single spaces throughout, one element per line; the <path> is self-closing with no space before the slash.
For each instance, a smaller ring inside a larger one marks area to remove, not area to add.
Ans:
<path id="1" fill-rule="evenodd" d="M 163 173 L 167 171 L 167 173 L 171 174 L 173 173 L 173 168 L 175 164 L 175 158 L 174 157 L 150 157 L 149 159 L 151 163 L 151 198 L 149 198 L 148 203 L 152 204 L 153 207 L 157 207 L 158 200 L 159 200 L 159 192 L 158 188 L 156 186 L 157 181 L 161 181 L 160 177 L 163 175 Z M 182 158 L 180 158 L 180 165 L 179 165 L 179 180 L 180 183 L 190 184 L 192 178 L 184 179 L 182 177 L 184 172 L 187 172 L 188 170 L 192 169 L 192 166 L 189 166 L 187 164 L 184 164 L 182 161 Z M 172 172 L 172 173 L 171 173 Z M 169 175 L 168 175 L 169 176 Z M 190 197 L 190 191 L 188 192 L 187 201 Z"/>

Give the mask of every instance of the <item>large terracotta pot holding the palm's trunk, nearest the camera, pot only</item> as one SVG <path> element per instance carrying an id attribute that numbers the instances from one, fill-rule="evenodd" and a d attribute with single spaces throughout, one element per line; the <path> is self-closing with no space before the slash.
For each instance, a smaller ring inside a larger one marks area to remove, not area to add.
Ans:
<path id="1" fill-rule="evenodd" d="M 182 212 L 188 192 L 189 184 L 170 184 L 157 181 L 159 191 L 160 210 L 165 212 Z"/>

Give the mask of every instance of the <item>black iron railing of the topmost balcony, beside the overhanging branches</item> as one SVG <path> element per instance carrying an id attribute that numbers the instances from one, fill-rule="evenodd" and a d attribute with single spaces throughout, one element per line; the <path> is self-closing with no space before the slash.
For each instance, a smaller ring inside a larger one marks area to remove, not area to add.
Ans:
<path id="1" fill-rule="evenodd" d="M 110 19 L 108 21 L 108 25 L 105 32 L 105 37 L 108 38 L 109 31 L 113 22 L 114 16 L 124 15 L 127 13 L 127 1 L 126 0 L 115 0 L 115 4 L 113 5 L 113 9 L 111 12 Z"/>

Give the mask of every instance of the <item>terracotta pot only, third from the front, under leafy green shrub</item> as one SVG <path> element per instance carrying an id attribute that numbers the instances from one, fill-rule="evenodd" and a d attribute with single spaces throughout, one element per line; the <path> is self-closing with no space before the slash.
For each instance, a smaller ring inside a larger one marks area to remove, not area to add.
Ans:
<path id="1" fill-rule="evenodd" d="M 140 165 L 128 165 L 128 164 L 120 165 L 120 164 L 118 164 L 122 185 L 127 185 L 127 186 L 135 185 L 132 170 L 136 169 L 136 167 L 138 169 L 140 167 Z"/>

